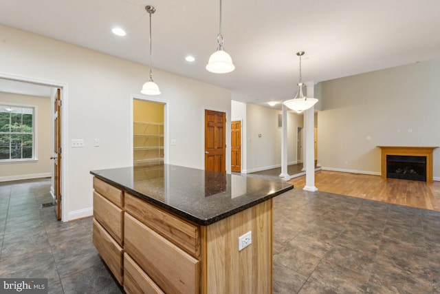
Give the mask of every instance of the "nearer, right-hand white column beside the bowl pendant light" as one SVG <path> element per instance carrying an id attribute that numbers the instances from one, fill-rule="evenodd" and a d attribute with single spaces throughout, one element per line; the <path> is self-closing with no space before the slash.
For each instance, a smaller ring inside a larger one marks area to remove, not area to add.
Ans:
<path id="1" fill-rule="evenodd" d="M 314 82 L 305 83 L 307 96 L 314 96 Z M 315 107 L 310 107 L 304 112 L 305 127 L 305 187 L 303 190 L 316 192 L 315 187 L 315 147 L 314 147 L 314 127 L 315 127 Z"/>

